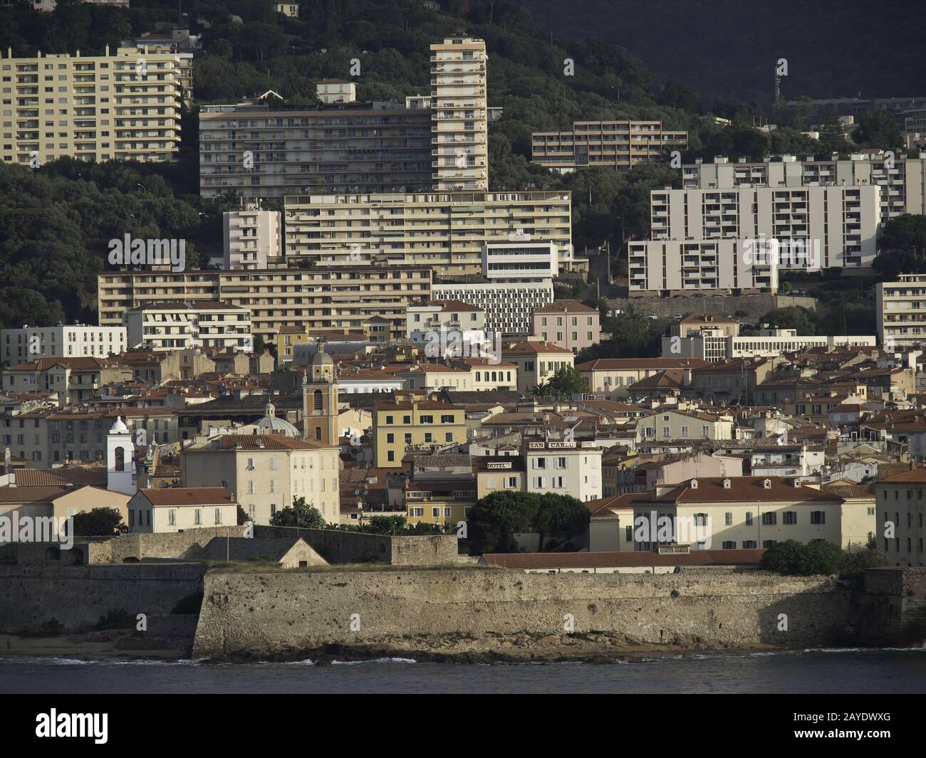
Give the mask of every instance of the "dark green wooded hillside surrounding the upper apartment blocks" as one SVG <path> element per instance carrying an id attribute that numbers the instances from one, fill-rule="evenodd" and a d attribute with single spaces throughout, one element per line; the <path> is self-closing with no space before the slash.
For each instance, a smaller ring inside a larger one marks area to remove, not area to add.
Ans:
<path id="1" fill-rule="evenodd" d="M 570 15 L 584 6 L 570 4 Z M 316 82 L 347 78 L 352 58 L 361 62 L 358 99 L 401 101 L 429 91 L 429 44 L 461 32 L 486 41 L 489 105 L 504 108 L 490 130 L 490 187 L 571 191 L 580 250 L 610 242 L 619 251 L 627 239 L 646 236 L 649 192 L 677 185 L 678 171 L 651 164 L 623 174 L 599 168 L 561 176 L 529 164 L 534 130 L 567 129 L 573 120 L 661 119 L 689 130 L 685 160 L 850 148 L 838 133 L 810 141 L 795 114 L 795 129 L 771 136 L 755 130 L 762 106 L 729 98 L 722 110 L 732 126 L 719 127 L 699 95 L 677 81 L 684 66 L 664 81 L 618 44 L 557 36 L 551 43 L 528 6 L 514 0 L 444 0 L 440 11 L 419 0 L 319 0 L 302 4 L 300 19 L 276 13 L 270 0 L 182 0 L 180 12 L 183 27 L 202 34 L 203 50 L 194 58 L 195 102 L 183 117 L 177 163 L 61 159 L 35 170 L 0 164 L 0 325 L 93 322 L 106 243 L 126 233 L 185 239 L 188 266 L 220 254 L 221 212 L 237 202 L 199 198 L 198 104 L 237 102 L 269 89 L 290 102 L 314 103 Z M 100 54 L 106 44 L 115 48 L 177 21 L 174 0 L 132 0 L 131 8 L 61 0 L 52 13 L 13 2 L 0 7 L 0 50 Z M 567 58 L 574 76 L 564 75 Z M 870 133 L 872 146 L 895 139 Z"/>

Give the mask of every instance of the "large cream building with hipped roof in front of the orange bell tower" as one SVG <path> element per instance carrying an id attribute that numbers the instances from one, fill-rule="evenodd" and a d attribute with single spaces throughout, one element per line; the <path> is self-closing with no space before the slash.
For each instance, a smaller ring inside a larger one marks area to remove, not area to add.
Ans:
<path id="1" fill-rule="evenodd" d="M 325 520 L 340 522 L 338 447 L 282 434 L 222 434 L 181 454 L 182 487 L 222 487 L 256 524 L 303 497 Z"/>

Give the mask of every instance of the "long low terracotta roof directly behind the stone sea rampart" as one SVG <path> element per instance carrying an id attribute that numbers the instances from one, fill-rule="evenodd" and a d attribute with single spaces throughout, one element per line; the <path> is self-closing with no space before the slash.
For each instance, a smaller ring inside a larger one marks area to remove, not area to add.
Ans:
<path id="1" fill-rule="evenodd" d="M 501 568 L 636 568 L 663 565 L 758 565 L 762 549 L 693 550 L 691 553 L 649 553 L 642 550 L 594 553 L 486 553 L 481 563 Z"/>

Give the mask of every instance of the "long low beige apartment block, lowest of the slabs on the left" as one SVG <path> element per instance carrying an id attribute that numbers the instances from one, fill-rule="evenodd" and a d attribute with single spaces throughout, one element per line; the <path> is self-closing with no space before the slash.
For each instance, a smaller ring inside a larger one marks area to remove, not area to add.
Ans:
<path id="1" fill-rule="evenodd" d="M 251 332 L 274 342 L 282 327 L 363 329 L 382 317 L 404 331 L 407 305 L 431 295 L 425 266 L 340 266 L 106 271 L 97 277 L 101 325 L 119 326 L 122 314 L 151 302 L 222 302 L 251 312 Z"/>

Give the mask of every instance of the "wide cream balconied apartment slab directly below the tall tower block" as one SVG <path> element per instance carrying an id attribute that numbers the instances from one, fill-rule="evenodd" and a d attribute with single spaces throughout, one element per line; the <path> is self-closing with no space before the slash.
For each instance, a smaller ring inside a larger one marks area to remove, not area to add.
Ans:
<path id="1" fill-rule="evenodd" d="M 555 243 L 560 269 L 574 268 L 568 192 L 290 195 L 285 226 L 283 255 L 319 264 L 383 257 L 441 276 L 480 274 L 485 243 L 521 231 Z"/>

